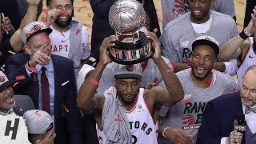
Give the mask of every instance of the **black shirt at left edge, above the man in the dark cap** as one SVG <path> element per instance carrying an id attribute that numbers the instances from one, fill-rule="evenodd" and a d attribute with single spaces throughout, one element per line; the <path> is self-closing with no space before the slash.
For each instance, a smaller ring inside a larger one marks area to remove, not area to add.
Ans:
<path id="1" fill-rule="evenodd" d="M 10 45 L 10 39 L 0 43 L 0 66 L 4 64 L 6 58 L 13 55 L 12 53 L 14 53 L 14 48 Z"/>

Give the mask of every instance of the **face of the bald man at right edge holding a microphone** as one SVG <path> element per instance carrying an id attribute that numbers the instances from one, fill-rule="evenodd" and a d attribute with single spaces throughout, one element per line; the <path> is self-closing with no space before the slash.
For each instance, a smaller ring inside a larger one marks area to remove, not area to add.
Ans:
<path id="1" fill-rule="evenodd" d="M 240 95 L 244 106 L 256 105 L 256 70 L 249 70 L 243 76 Z"/>

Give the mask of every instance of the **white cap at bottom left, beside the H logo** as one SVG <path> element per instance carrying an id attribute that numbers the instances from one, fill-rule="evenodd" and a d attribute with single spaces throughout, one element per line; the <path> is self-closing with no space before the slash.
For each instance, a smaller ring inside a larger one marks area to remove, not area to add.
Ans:
<path id="1" fill-rule="evenodd" d="M 46 134 L 47 128 L 54 123 L 46 111 L 28 110 L 24 113 L 23 118 L 26 120 L 27 130 L 30 134 Z"/>

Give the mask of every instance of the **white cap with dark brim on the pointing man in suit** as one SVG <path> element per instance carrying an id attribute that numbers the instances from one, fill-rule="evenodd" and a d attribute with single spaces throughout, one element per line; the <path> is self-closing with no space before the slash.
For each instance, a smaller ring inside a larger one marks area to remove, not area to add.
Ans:
<path id="1" fill-rule="evenodd" d="M 48 28 L 43 22 L 30 22 L 23 28 L 22 31 L 22 42 L 26 45 L 27 40 L 33 36 L 34 34 L 38 34 L 39 32 L 46 32 L 50 34 L 53 30 Z"/>

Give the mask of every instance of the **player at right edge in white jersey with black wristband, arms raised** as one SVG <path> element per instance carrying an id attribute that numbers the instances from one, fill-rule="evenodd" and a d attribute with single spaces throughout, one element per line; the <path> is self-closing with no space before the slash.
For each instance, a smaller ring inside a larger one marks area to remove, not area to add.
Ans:
<path id="1" fill-rule="evenodd" d="M 234 38 L 226 42 L 219 57 L 229 60 L 231 58 L 238 59 L 238 89 L 241 90 L 242 75 L 249 66 L 256 64 L 256 7 L 254 14 L 251 14 L 251 19 L 244 30 Z M 254 34 L 254 37 L 251 37 Z"/>

